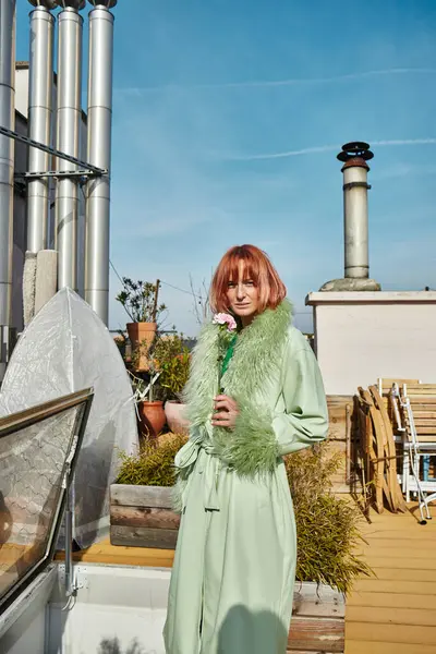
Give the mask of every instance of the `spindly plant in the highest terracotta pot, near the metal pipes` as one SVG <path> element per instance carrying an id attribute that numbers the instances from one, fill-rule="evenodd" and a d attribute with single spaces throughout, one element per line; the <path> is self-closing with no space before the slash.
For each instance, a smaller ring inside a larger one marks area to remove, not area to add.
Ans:
<path id="1" fill-rule="evenodd" d="M 132 346 L 134 366 L 136 371 L 147 370 L 147 353 L 155 340 L 157 325 L 161 314 L 167 310 L 165 304 L 158 305 L 159 280 L 132 281 L 129 277 L 122 278 L 123 290 L 117 295 L 131 323 L 126 324 L 129 339 Z"/>

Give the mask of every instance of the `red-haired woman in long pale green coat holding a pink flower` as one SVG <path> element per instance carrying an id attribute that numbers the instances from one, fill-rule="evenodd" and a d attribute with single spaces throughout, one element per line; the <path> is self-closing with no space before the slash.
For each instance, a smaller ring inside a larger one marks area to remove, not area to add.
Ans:
<path id="1" fill-rule="evenodd" d="M 318 443 L 327 407 L 286 287 L 253 245 L 222 257 L 193 355 L 191 436 L 175 458 L 182 513 L 167 654 L 284 654 L 296 538 L 283 455 Z M 233 329 L 237 327 L 237 329 Z"/>

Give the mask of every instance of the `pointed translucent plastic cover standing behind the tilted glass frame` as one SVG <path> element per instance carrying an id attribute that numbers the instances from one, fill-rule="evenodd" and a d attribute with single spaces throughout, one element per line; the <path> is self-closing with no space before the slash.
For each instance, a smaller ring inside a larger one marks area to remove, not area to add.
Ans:
<path id="1" fill-rule="evenodd" d="M 131 384 L 113 338 L 90 306 L 65 288 L 20 338 L 1 387 L 0 416 L 88 387 L 94 401 L 74 483 L 81 548 L 107 533 L 119 452 L 135 451 L 138 436 Z"/>

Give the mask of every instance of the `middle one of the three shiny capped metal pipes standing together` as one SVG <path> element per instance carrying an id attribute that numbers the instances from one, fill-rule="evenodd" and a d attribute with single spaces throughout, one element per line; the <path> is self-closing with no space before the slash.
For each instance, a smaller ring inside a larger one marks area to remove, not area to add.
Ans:
<path id="1" fill-rule="evenodd" d="M 83 19 L 78 10 L 85 0 L 58 0 L 58 107 L 57 149 L 80 156 L 82 123 L 82 37 Z M 58 171 L 77 170 L 58 159 Z M 60 178 L 56 187 L 56 249 L 58 250 L 58 288 L 77 290 L 78 182 Z"/>

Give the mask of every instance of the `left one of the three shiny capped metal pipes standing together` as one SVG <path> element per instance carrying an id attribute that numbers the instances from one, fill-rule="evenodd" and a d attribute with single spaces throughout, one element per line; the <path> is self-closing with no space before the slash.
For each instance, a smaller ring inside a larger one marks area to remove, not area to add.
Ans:
<path id="1" fill-rule="evenodd" d="M 50 14 L 53 0 L 28 0 L 36 7 L 31 12 L 31 53 L 28 73 L 28 136 L 51 145 L 53 110 L 53 39 L 55 17 Z M 40 149 L 28 149 L 28 170 L 50 170 L 50 155 Z M 27 250 L 39 252 L 47 247 L 49 210 L 49 179 L 27 183 Z"/>

